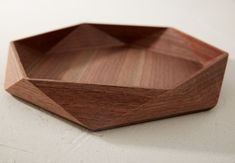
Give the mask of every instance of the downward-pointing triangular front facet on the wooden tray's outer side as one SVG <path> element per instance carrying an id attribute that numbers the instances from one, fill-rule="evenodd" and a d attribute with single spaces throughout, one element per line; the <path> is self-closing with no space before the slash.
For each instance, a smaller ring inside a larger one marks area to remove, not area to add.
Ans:
<path id="1" fill-rule="evenodd" d="M 37 80 L 31 82 L 93 130 L 116 126 L 115 119 L 165 91 Z"/>

